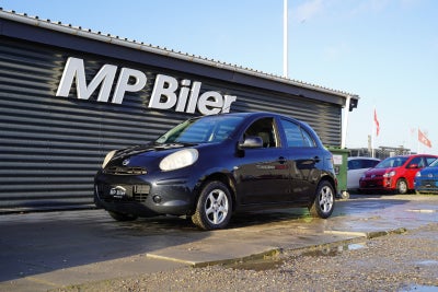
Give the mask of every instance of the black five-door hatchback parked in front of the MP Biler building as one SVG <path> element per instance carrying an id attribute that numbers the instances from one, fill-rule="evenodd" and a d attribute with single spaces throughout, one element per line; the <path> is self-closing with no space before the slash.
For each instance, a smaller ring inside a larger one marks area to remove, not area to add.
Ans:
<path id="1" fill-rule="evenodd" d="M 336 177 L 313 129 L 270 113 L 192 118 L 157 141 L 111 151 L 95 176 L 94 201 L 119 221 L 192 217 L 223 229 L 234 211 L 308 207 L 328 218 Z"/>

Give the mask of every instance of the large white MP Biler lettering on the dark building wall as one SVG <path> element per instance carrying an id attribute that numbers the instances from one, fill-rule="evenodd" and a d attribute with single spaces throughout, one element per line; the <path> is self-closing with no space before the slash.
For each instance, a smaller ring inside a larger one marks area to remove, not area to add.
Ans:
<path id="1" fill-rule="evenodd" d="M 97 102 L 107 103 L 111 89 L 117 73 L 117 66 L 104 65 L 97 74 L 87 84 L 85 68 L 82 59 L 70 57 L 67 60 L 56 96 L 68 97 L 70 89 L 76 80 L 76 89 L 79 100 L 89 100 L 100 86 Z M 135 80 L 135 82 L 129 82 Z M 146 86 L 147 77 L 143 72 L 122 68 L 114 90 L 111 103 L 122 104 L 126 92 L 138 92 Z M 229 113 L 231 104 L 235 102 L 234 95 L 221 95 L 216 91 L 207 91 L 199 95 L 201 82 L 192 82 L 184 79 L 178 82 L 175 78 L 157 74 L 152 94 L 148 107 L 171 109 L 175 112 L 195 113 L 203 115 Z"/>

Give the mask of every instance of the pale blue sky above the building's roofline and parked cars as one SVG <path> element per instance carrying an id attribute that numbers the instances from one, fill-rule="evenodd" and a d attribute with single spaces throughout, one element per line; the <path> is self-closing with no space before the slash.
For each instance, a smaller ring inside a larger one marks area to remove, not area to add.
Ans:
<path id="1" fill-rule="evenodd" d="M 3 10 L 283 75 L 283 0 L 0 0 Z M 289 78 L 360 97 L 347 148 L 438 154 L 438 1 L 289 0 Z M 417 142 L 417 129 L 433 148 Z"/>

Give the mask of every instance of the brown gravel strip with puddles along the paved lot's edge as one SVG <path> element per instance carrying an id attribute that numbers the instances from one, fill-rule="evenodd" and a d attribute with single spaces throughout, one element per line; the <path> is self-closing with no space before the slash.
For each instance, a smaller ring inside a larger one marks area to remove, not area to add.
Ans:
<path id="1" fill-rule="evenodd" d="M 233 267 L 182 268 L 55 291 L 438 291 L 438 223 Z"/>

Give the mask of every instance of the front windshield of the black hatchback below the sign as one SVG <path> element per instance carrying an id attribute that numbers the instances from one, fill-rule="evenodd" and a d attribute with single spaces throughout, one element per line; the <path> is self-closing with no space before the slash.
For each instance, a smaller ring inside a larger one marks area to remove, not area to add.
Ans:
<path id="1" fill-rule="evenodd" d="M 221 142 L 230 137 L 242 119 L 234 116 L 189 119 L 161 136 L 155 142 L 160 144 Z"/>

